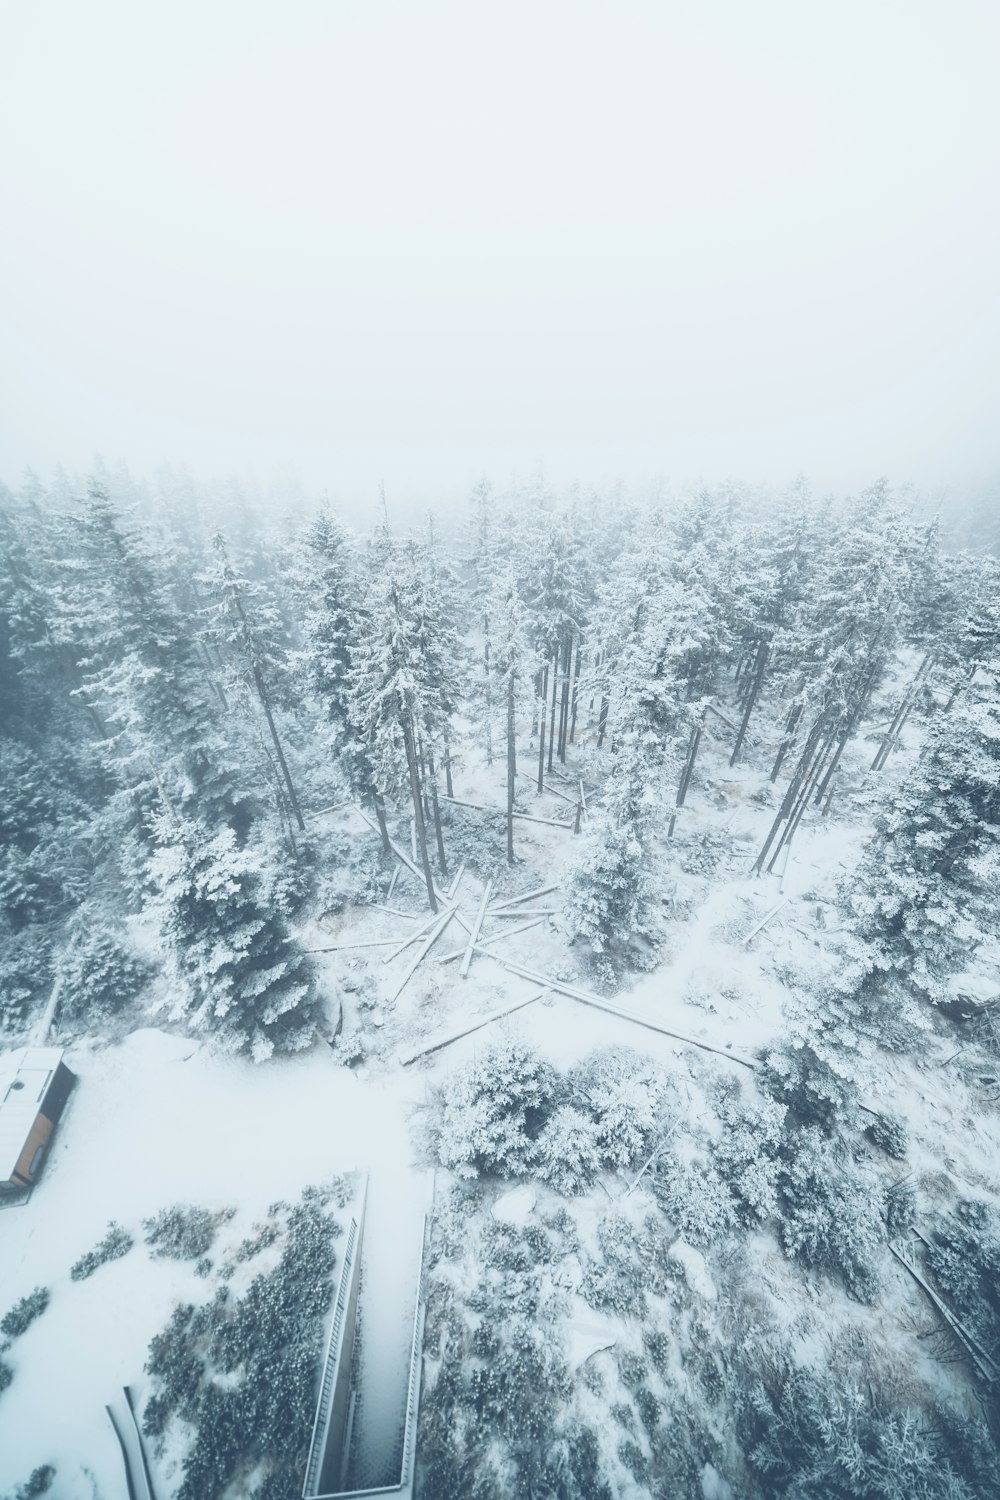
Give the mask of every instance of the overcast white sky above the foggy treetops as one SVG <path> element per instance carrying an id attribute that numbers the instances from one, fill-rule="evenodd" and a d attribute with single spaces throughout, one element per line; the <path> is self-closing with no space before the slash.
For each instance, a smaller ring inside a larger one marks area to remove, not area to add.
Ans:
<path id="1" fill-rule="evenodd" d="M 0 476 L 996 471 L 999 0 L 1 0 Z"/>

